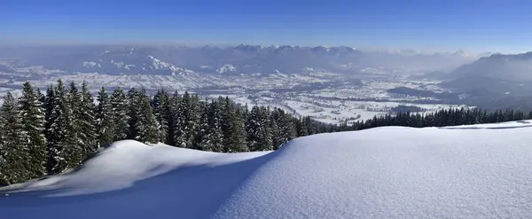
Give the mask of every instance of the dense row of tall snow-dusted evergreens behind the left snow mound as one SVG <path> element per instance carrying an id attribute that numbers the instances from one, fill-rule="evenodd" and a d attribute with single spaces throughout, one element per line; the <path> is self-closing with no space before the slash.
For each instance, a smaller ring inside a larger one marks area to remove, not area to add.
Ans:
<path id="1" fill-rule="evenodd" d="M 210 152 L 275 150 L 294 137 L 330 131 L 278 108 L 239 106 L 230 98 L 200 101 L 197 95 L 117 88 L 98 92 L 87 83 L 59 80 L 45 94 L 23 85 L 0 107 L 0 185 L 54 175 L 78 167 L 101 146 L 122 139 Z"/>

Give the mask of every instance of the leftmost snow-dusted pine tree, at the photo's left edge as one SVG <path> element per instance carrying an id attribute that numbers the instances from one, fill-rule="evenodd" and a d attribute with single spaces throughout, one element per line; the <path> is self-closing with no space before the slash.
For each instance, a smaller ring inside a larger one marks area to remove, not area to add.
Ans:
<path id="1" fill-rule="evenodd" d="M 7 92 L 4 104 L 0 107 L 0 119 L 3 125 L 0 129 L 3 158 L 3 175 L 0 181 L 4 184 L 20 183 L 33 175 L 27 167 L 30 162 L 28 137 L 17 105 L 12 93 Z"/>

